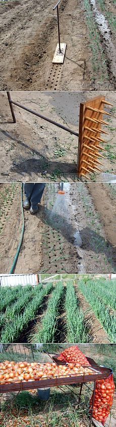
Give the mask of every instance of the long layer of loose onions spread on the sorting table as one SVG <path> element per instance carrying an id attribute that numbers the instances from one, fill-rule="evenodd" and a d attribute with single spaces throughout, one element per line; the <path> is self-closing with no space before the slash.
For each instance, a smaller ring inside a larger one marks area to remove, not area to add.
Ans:
<path id="1" fill-rule="evenodd" d="M 17 381 L 34 381 L 36 379 L 71 376 L 93 373 L 90 368 L 84 368 L 78 363 L 56 365 L 55 363 L 37 362 L 9 362 L 0 363 L 0 383 L 12 383 Z"/>

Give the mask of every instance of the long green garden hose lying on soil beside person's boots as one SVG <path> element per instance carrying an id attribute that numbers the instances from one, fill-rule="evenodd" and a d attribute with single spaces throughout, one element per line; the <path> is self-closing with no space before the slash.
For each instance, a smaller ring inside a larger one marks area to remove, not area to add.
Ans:
<path id="1" fill-rule="evenodd" d="M 14 270 L 15 270 L 15 267 L 16 267 L 16 263 L 17 263 L 17 260 L 18 260 L 20 249 L 21 249 L 21 246 L 22 246 L 22 243 L 23 243 L 23 236 L 24 236 L 24 231 L 25 231 L 25 218 L 24 218 L 24 211 L 23 211 L 23 183 L 21 184 L 21 211 L 22 211 L 23 223 L 22 223 L 22 230 L 21 230 L 20 242 L 19 242 L 19 245 L 18 245 L 18 248 L 17 248 L 17 252 L 16 252 L 16 255 L 15 255 L 15 258 L 14 258 L 11 270 L 10 270 L 10 274 L 14 274 Z"/>

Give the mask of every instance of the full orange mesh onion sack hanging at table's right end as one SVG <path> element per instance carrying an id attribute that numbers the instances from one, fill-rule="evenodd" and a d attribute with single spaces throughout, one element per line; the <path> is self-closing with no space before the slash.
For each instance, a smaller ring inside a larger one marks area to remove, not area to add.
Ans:
<path id="1" fill-rule="evenodd" d="M 96 381 L 95 401 L 93 406 L 93 418 L 101 422 L 103 425 L 111 410 L 111 406 L 113 403 L 114 389 L 115 389 L 115 386 L 114 386 L 112 374 L 110 374 L 108 378 L 98 379 L 98 381 Z M 91 399 L 90 399 L 90 411 L 91 411 L 91 405 L 92 405 L 92 398 L 93 398 L 93 395 L 91 396 Z"/>

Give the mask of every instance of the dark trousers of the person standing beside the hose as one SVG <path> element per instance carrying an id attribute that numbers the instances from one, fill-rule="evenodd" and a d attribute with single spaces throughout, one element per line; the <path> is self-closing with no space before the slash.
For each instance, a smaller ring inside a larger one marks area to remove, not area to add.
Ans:
<path id="1" fill-rule="evenodd" d="M 37 207 L 37 204 L 40 203 L 42 194 L 45 188 L 45 184 L 37 184 L 37 183 L 25 183 L 24 184 L 24 192 L 26 198 L 30 201 L 32 208 Z"/>

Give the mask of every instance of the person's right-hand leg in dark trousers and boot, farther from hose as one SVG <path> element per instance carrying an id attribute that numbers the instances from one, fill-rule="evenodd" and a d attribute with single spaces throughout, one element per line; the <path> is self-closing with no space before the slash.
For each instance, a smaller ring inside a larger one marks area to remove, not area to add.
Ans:
<path id="1" fill-rule="evenodd" d="M 45 184 L 44 183 L 40 183 L 40 184 L 35 183 L 34 188 L 33 188 L 33 192 L 32 192 L 32 195 L 31 195 L 31 199 L 30 199 L 31 208 L 32 208 L 31 211 L 32 210 L 33 211 L 37 211 L 38 210 L 38 206 L 37 205 L 41 201 L 44 188 L 45 188 Z M 31 212 L 31 213 L 34 213 L 34 212 Z"/>

